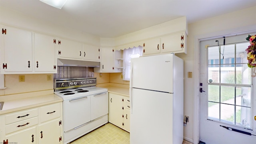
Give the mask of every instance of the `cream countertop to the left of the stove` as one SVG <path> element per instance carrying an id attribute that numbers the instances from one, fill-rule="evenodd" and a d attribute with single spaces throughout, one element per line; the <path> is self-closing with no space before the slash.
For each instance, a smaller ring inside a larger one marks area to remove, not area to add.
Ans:
<path id="1" fill-rule="evenodd" d="M 26 98 L 22 98 L 17 94 L 17 98 L 13 100 L 8 100 L 6 97 L 8 96 L 0 96 L 0 102 L 4 102 L 3 108 L 0 110 L 0 114 L 24 110 L 36 106 L 43 106 L 55 102 L 62 102 L 62 98 L 55 94 L 45 94 Z"/>

